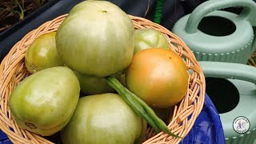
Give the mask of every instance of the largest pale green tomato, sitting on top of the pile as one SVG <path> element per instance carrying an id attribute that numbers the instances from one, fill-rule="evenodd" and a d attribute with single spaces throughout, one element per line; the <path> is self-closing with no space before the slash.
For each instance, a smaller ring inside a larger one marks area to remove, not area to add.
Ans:
<path id="1" fill-rule="evenodd" d="M 80 2 L 59 26 L 56 46 L 72 70 L 105 77 L 129 66 L 134 54 L 134 25 L 111 2 Z"/>

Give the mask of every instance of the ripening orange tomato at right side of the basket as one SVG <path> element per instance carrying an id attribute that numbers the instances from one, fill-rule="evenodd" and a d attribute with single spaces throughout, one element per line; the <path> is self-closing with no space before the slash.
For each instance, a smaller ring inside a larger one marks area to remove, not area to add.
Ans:
<path id="1" fill-rule="evenodd" d="M 182 58 L 172 50 L 150 48 L 134 54 L 126 71 L 126 86 L 149 106 L 178 104 L 188 89 L 189 74 Z"/>

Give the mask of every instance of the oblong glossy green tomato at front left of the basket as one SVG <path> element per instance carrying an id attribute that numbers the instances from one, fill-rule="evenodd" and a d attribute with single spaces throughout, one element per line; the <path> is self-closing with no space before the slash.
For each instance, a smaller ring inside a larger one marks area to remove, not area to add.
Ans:
<path id="1" fill-rule="evenodd" d="M 25 78 L 10 95 L 14 121 L 23 129 L 49 136 L 62 130 L 78 104 L 80 87 L 72 70 L 57 66 Z"/>

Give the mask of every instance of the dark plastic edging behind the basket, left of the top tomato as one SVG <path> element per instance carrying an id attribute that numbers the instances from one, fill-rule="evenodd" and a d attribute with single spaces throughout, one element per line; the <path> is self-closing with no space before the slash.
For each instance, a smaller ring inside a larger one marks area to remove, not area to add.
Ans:
<path id="1" fill-rule="evenodd" d="M 17 22 L 0 34 L 0 62 L 9 52 L 12 46 L 22 37 L 36 29 L 42 23 L 49 21 L 61 14 L 65 14 L 80 0 L 51 0 L 32 14 L 28 15 L 22 21 Z"/>

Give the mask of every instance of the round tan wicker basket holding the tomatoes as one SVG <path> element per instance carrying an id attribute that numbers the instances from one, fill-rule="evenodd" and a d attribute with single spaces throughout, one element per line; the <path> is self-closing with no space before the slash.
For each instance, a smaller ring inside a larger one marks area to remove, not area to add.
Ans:
<path id="1" fill-rule="evenodd" d="M 8 98 L 18 82 L 21 82 L 23 78 L 29 75 L 24 64 L 24 56 L 28 46 L 41 34 L 56 31 L 58 26 L 66 18 L 66 15 L 67 14 L 64 14 L 50 22 L 42 24 L 42 26 L 39 26 L 36 30 L 30 31 L 30 33 L 26 34 L 22 40 L 12 47 L 9 54 L 2 60 L 0 65 L 0 128 L 7 134 L 11 142 L 53 143 L 46 138 L 42 138 L 40 135 L 19 128 L 10 115 Z M 201 112 L 204 103 L 205 78 L 202 69 L 192 51 L 190 51 L 180 38 L 172 34 L 170 30 L 145 18 L 129 16 L 134 23 L 135 29 L 153 28 L 161 31 L 162 34 L 168 38 L 171 50 L 180 54 L 184 62 L 186 62 L 187 70 L 190 72 L 189 89 L 187 90 L 185 98 L 182 99 L 182 102 L 174 106 L 172 116 L 168 121 L 168 127 L 174 134 L 185 137 L 194 125 L 195 119 Z M 163 132 L 154 134 L 154 130 L 149 127 L 144 143 L 178 143 L 181 140 L 181 138 L 174 138 Z"/>

